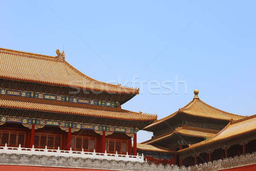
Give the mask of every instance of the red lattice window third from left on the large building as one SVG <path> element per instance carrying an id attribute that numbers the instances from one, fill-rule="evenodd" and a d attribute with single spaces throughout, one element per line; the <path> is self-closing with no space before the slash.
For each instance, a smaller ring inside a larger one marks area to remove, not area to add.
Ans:
<path id="1" fill-rule="evenodd" d="M 71 148 L 74 151 L 93 151 L 96 146 L 96 139 L 93 137 L 72 136 Z"/>

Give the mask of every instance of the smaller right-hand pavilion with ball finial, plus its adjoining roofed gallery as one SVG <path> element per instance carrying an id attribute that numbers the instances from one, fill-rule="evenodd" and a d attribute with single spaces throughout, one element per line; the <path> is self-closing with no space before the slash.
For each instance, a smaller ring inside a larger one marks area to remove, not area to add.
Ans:
<path id="1" fill-rule="evenodd" d="M 149 162 L 192 166 L 256 151 L 254 116 L 227 113 L 195 96 L 185 107 L 143 130 L 153 132 L 137 145 Z"/>

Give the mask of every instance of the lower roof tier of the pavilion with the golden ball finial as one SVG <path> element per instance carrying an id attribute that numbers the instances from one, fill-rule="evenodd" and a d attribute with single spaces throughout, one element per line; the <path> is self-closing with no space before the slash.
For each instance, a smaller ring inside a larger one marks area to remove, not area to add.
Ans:
<path id="1" fill-rule="evenodd" d="M 214 136 L 216 133 L 218 133 L 218 130 L 196 128 L 196 127 L 185 125 L 183 127 L 175 128 L 175 130 L 172 130 L 168 133 L 162 134 L 160 136 L 156 136 L 148 141 L 142 142 L 142 144 L 153 144 L 154 142 L 159 142 L 161 140 L 170 138 L 172 136 L 176 136 L 176 134 L 183 135 L 183 136 L 198 137 L 198 138 L 207 138 L 207 137 Z"/>

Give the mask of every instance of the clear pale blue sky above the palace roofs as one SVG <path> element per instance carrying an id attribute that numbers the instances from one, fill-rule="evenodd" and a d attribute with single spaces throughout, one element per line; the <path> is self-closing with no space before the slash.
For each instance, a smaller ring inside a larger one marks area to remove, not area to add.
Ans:
<path id="1" fill-rule="evenodd" d="M 44 55 L 64 48 L 66 60 L 92 78 L 130 81 L 129 87 L 139 82 L 134 87 L 141 94 L 123 109 L 161 119 L 189 103 L 197 87 L 200 99 L 214 107 L 256 113 L 256 1 L 31 0 L 0 6 L 0 47 Z M 138 142 L 149 138 L 151 133 L 138 134 Z"/>

